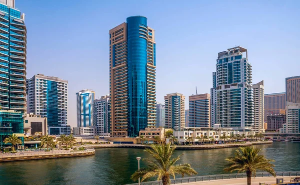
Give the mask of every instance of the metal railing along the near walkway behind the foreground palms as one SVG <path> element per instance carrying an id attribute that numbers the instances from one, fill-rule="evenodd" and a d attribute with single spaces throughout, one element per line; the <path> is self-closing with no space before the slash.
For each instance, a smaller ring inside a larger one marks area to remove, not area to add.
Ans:
<path id="1" fill-rule="evenodd" d="M 300 176 L 300 172 L 276 172 L 276 177 L 298 177 Z M 254 176 L 252 176 L 254 177 Z M 255 177 L 272 177 L 270 173 L 267 172 L 256 172 Z M 240 178 L 247 178 L 246 174 L 222 174 L 222 175 L 212 175 L 212 176 L 198 176 L 198 177 L 189 177 L 189 178 L 178 178 L 172 179 L 171 185 L 182 184 L 182 183 L 195 183 L 201 181 L 212 181 L 212 180 L 224 180 L 224 179 L 240 179 Z M 129 185 L 138 185 L 129 184 Z M 161 181 L 151 181 L 140 183 L 140 185 L 162 185 Z"/>

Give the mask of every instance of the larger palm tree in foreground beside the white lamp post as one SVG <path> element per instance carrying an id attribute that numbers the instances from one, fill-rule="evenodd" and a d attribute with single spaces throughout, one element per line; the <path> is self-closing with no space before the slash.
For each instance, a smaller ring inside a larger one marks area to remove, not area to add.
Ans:
<path id="1" fill-rule="evenodd" d="M 131 179 L 137 181 L 141 178 L 141 182 L 157 177 L 157 181 L 162 181 L 162 185 L 169 185 L 170 177 L 175 179 L 175 174 L 184 177 L 185 174 L 191 176 L 197 174 L 189 164 L 175 165 L 180 159 L 178 157 L 172 157 L 172 154 L 176 147 L 170 147 L 171 143 L 162 145 L 151 145 L 151 149 L 145 149 L 144 151 L 150 154 L 153 160 L 143 159 L 147 162 L 147 167 L 141 168 L 132 174 Z"/>

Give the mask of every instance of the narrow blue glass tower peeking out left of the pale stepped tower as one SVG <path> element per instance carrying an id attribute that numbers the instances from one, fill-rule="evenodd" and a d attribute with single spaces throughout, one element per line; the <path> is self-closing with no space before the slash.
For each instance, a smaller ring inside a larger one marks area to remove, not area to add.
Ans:
<path id="1" fill-rule="evenodd" d="M 212 88 L 210 89 L 210 126 L 216 124 L 216 72 L 212 72 Z"/>

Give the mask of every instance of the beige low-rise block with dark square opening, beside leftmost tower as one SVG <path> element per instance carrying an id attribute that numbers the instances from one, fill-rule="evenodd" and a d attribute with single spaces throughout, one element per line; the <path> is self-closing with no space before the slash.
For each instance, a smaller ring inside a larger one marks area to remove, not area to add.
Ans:
<path id="1" fill-rule="evenodd" d="M 34 134 L 47 135 L 48 134 L 47 118 L 36 114 L 26 114 L 24 123 L 24 134 L 31 136 Z"/>

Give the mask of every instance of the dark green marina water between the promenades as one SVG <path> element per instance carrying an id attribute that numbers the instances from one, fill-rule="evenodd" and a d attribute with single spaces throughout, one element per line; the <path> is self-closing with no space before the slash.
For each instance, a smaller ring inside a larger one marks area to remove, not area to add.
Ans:
<path id="1" fill-rule="evenodd" d="M 256 145 L 272 158 L 275 171 L 300 171 L 300 143 Z M 197 176 L 224 174 L 224 159 L 237 148 L 175 151 L 179 163 L 189 163 Z M 94 156 L 0 163 L 0 185 L 123 185 L 132 183 L 136 157 L 149 157 L 142 149 L 96 149 Z M 141 167 L 144 166 L 141 161 Z"/>

